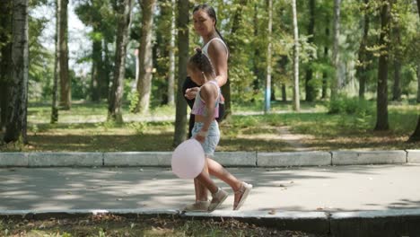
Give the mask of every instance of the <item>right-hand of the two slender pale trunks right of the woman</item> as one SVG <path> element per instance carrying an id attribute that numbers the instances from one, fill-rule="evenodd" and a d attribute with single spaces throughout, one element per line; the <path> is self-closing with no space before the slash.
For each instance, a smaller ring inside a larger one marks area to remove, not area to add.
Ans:
<path id="1" fill-rule="evenodd" d="M 341 85 L 340 73 L 338 70 L 339 66 L 339 37 L 340 37 L 340 6 L 341 0 L 334 0 L 334 46 L 333 46 L 333 66 L 335 70 L 335 76 L 331 81 L 331 100 L 334 101 L 337 98 L 338 86 Z"/>

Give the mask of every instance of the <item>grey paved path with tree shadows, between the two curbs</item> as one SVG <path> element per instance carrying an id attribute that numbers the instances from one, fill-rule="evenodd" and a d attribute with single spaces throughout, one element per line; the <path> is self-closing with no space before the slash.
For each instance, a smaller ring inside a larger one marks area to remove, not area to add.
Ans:
<path id="1" fill-rule="evenodd" d="M 230 168 L 254 185 L 242 211 L 420 208 L 420 164 Z M 219 182 L 220 183 L 220 182 Z M 228 189 L 225 184 L 220 183 Z M 232 208 L 233 195 L 222 206 Z M 3 168 L 0 212 L 167 208 L 194 201 L 190 180 L 167 168 Z"/>

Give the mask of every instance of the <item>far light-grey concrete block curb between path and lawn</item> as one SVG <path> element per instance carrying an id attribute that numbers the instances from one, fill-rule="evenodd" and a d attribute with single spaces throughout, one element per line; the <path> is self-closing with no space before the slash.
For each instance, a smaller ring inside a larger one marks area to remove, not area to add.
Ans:
<path id="1" fill-rule="evenodd" d="M 0 167 L 171 167 L 171 152 L 0 153 Z M 288 167 L 420 163 L 420 150 L 333 152 L 219 152 L 223 166 Z"/>

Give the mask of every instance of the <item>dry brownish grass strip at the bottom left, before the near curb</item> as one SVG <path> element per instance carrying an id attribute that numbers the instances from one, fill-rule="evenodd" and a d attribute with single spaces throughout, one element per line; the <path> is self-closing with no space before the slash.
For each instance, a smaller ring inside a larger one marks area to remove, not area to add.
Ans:
<path id="1" fill-rule="evenodd" d="M 241 223 L 227 219 L 186 220 L 118 215 L 94 215 L 86 218 L 49 220 L 0 220 L 1 236 L 72 237 L 72 236 L 321 236 Z"/>

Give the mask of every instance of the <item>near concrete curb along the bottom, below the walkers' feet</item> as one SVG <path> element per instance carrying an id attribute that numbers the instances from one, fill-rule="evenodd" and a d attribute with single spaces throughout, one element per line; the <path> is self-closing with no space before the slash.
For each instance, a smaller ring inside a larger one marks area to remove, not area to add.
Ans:
<path id="1" fill-rule="evenodd" d="M 77 218 L 90 215 L 121 215 L 178 217 L 187 219 L 236 219 L 249 224 L 279 230 L 330 234 L 332 236 L 417 236 L 420 233 L 420 209 L 360 212 L 274 212 L 214 211 L 213 213 L 182 213 L 176 209 L 108 209 L 108 210 L 13 210 L 1 211 L 0 219 Z"/>

